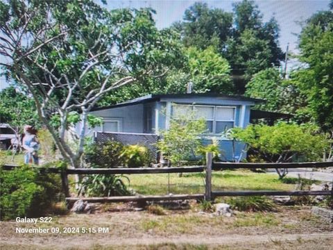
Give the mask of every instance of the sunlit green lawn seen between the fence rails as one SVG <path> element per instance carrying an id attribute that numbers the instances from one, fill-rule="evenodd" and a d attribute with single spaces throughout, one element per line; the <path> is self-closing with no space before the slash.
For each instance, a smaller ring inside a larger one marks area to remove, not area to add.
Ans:
<path id="1" fill-rule="evenodd" d="M 196 194 L 205 192 L 205 174 L 133 174 L 130 188 L 139 194 Z M 125 180 L 126 181 L 126 180 Z M 278 174 L 254 173 L 248 170 L 213 172 L 212 190 L 295 190 L 298 178 L 280 180 Z M 309 181 L 307 183 L 316 183 Z"/>

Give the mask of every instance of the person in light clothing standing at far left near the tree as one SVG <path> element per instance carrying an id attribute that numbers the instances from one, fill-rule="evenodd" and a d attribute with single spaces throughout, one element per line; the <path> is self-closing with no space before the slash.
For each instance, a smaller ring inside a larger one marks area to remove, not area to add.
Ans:
<path id="1" fill-rule="evenodd" d="M 33 163 L 38 165 L 39 159 L 37 151 L 40 149 L 40 143 L 37 140 L 37 131 L 30 125 L 24 126 L 24 137 L 22 147 L 25 149 L 24 163 Z"/>

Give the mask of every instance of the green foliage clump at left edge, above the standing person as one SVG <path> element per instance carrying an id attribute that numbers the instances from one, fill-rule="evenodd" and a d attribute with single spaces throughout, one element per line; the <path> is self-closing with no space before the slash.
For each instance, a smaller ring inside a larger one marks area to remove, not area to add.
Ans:
<path id="1" fill-rule="evenodd" d="M 25 124 L 40 127 L 35 102 L 31 97 L 11 86 L 1 90 L 0 99 L 0 122 L 18 126 L 20 130 L 23 130 Z"/>

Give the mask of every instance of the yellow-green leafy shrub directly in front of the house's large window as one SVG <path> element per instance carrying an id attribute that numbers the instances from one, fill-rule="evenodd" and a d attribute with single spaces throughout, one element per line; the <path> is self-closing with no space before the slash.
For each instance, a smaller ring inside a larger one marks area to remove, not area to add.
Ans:
<path id="1" fill-rule="evenodd" d="M 170 128 L 161 132 L 162 140 L 157 142 L 157 149 L 173 165 L 179 166 L 180 160 L 187 160 L 198 151 L 198 136 L 205 131 L 205 120 L 194 119 L 191 114 L 180 119 L 170 119 Z"/>

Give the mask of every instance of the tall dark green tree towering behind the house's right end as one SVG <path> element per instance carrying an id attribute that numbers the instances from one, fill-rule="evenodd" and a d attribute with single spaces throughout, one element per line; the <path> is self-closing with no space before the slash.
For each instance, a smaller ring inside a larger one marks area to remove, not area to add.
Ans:
<path id="1" fill-rule="evenodd" d="M 262 13 L 254 1 L 234 3 L 234 25 L 232 36 L 226 42 L 225 58 L 229 60 L 235 85 L 244 93 L 244 85 L 253 74 L 280 65 L 284 54 L 279 47 L 278 22 L 274 17 L 262 21 Z"/>

